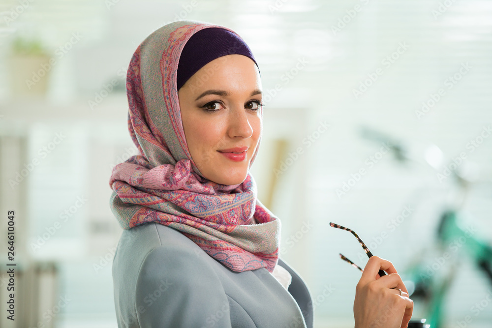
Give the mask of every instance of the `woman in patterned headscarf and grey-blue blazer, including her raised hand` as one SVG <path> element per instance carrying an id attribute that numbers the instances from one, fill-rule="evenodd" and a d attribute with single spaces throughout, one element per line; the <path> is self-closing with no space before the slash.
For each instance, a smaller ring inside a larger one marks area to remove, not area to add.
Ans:
<path id="1" fill-rule="evenodd" d="M 248 173 L 263 112 L 243 39 L 220 26 L 168 24 L 135 51 L 126 89 L 140 154 L 110 179 L 125 229 L 113 262 L 118 326 L 313 327 L 309 290 L 278 258 L 278 218 Z M 390 274 L 379 278 L 379 269 Z M 406 292 L 391 263 L 372 257 L 356 327 L 405 327 Z"/>

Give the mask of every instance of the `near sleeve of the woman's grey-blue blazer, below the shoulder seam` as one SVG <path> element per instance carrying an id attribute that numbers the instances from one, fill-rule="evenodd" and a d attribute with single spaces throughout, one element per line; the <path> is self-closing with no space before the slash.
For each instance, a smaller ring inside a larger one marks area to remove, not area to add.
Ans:
<path id="1" fill-rule="evenodd" d="M 150 251 L 139 268 L 134 295 L 140 327 L 203 327 L 216 313 L 223 316 L 216 327 L 231 327 L 224 287 L 213 266 L 192 247 L 164 243 Z"/>

